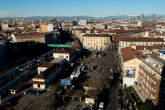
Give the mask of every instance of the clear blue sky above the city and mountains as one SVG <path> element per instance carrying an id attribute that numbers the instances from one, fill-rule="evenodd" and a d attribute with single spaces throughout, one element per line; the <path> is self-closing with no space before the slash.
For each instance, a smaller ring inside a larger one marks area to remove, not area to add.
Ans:
<path id="1" fill-rule="evenodd" d="M 165 0 L 0 0 L 0 16 L 165 15 Z"/>

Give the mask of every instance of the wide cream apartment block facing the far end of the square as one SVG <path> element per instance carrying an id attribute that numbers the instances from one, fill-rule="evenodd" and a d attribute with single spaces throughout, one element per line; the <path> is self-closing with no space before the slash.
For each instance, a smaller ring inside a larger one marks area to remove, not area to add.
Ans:
<path id="1" fill-rule="evenodd" d="M 105 50 L 111 44 L 111 36 L 108 34 L 84 34 L 80 40 L 84 48 L 89 50 Z"/>

